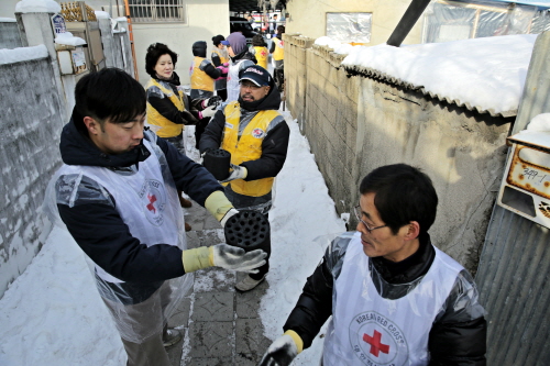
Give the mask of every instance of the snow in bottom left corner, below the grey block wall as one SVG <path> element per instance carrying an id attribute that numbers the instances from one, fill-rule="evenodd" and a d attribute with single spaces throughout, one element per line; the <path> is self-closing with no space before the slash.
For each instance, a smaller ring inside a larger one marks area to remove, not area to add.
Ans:
<path id="1" fill-rule="evenodd" d="M 0 308 L 0 365 L 125 363 L 82 251 L 64 230 L 53 230 Z"/>

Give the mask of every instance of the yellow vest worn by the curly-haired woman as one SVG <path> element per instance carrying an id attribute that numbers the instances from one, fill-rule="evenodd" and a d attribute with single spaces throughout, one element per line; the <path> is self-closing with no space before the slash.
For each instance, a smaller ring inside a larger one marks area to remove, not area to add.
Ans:
<path id="1" fill-rule="evenodd" d="M 165 88 L 163 85 L 161 85 L 156 79 L 151 79 L 148 80 L 147 85 L 145 86 L 145 90 L 152 87 L 157 87 L 161 89 L 161 91 L 169 98 L 172 103 L 177 108 L 178 111 L 184 111 L 185 110 L 185 104 L 184 104 L 184 91 L 178 90 L 178 93 L 174 93 L 174 90 Z M 158 129 L 154 129 L 155 133 L 161 136 L 161 137 L 175 137 L 178 136 L 182 131 L 184 131 L 184 125 L 183 124 L 177 124 L 158 113 L 158 111 L 151 106 L 151 103 L 147 101 L 147 123 L 151 125 L 156 125 Z"/>

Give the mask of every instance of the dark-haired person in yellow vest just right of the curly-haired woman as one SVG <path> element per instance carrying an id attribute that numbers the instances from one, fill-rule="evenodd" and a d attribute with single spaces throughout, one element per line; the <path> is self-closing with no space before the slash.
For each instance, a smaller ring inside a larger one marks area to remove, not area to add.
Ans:
<path id="1" fill-rule="evenodd" d="M 191 79 L 191 99 L 210 98 L 213 96 L 215 80 L 228 76 L 228 68 L 223 65 L 215 66 L 206 58 L 207 43 L 197 41 L 193 44 L 193 55 L 195 56 L 189 77 Z"/>

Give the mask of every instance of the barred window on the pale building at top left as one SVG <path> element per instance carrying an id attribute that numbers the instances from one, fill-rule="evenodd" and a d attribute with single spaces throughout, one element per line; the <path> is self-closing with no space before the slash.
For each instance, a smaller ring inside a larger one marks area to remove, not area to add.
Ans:
<path id="1" fill-rule="evenodd" d="M 184 0 L 128 0 L 134 23 L 185 22 Z"/>

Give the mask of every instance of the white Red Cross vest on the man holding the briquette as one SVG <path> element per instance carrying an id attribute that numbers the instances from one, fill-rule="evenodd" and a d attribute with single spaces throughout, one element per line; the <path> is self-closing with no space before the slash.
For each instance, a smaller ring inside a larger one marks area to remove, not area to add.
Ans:
<path id="1" fill-rule="evenodd" d="M 160 159 L 166 163 L 164 154 L 156 144 L 151 144 L 145 138 L 143 144 L 151 152 L 151 156 L 139 164 L 139 169 L 133 175 L 114 173 L 103 167 L 73 165 L 62 166 L 57 174 L 85 175 L 105 187 L 114 198 L 116 209 L 132 236 L 147 247 L 168 244 L 185 249 L 184 214 L 174 179 L 169 171 L 163 171 L 160 164 Z M 163 166 L 166 170 L 167 165 Z M 79 181 L 75 189 L 78 184 Z M 96 270 L 99 277 L 109 282 L 122 282 L 97 265 Z"/>

